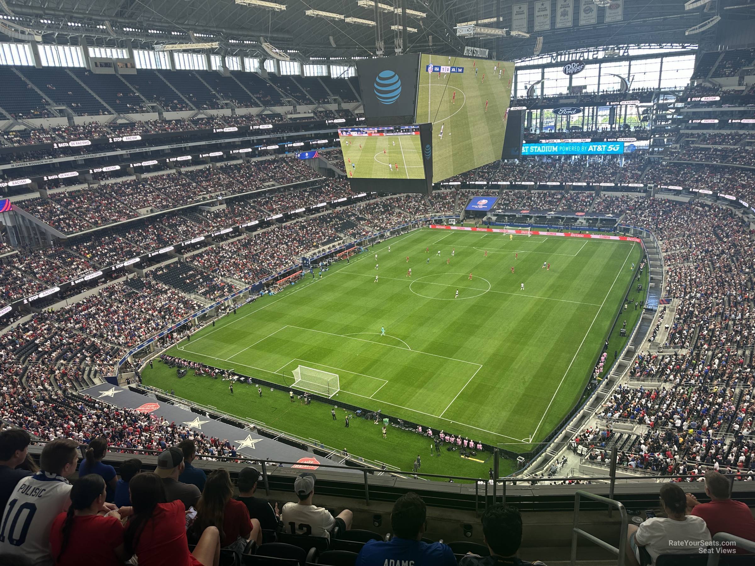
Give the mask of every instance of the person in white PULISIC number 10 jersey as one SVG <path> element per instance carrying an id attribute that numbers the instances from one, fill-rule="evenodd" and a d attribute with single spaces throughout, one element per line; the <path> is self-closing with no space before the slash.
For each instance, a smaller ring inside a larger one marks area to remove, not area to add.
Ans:
<path id="1" fill-rule="evenodd" d="M 8 563 L 13 557 L 20 564 L 52 566 L 55 562 L 50 554 L 50 528 L 71 503 L 66 476 L 76 471 L 79 443 L 70 438 L 49 441 L 42 448 L 40 463 L 42 471 L 18 482 L 0 516 L 0 556 Z M 115 506 L 108 504 L 109 509 Z"/>

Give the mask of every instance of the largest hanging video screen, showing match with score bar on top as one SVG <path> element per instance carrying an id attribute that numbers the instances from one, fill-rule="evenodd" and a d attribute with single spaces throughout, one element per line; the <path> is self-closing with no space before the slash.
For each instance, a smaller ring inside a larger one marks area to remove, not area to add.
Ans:
<path id="1" fill-rule="evenodd" d="M 433 124 L 433 183 L 501 158 L 514 64 L 422 54 L 415 122 Z"/>

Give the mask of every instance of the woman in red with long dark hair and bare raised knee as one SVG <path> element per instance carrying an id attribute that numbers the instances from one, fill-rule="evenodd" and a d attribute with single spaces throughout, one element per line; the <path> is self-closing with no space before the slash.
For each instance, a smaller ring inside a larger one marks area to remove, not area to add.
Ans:
<path id="1" fill-rule="evenodd" d="M 165 484 L 154 472 L 134 475 L 128 483 L 131 507 L 119 512 L 128 517 L 124 535 L 127 556 L 136 554 L 139 566 L 217 566 L 220 534 L 208 527 L 194 552 L 186 540 L 186 509 L 180 500 L 166 503 Z"/>

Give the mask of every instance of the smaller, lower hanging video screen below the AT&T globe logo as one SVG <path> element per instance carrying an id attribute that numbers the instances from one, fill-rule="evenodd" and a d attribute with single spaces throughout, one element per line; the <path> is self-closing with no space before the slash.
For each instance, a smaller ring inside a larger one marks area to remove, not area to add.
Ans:
<path id="1" fill-rule="evenodd" d="M 424 179 L 420 127 L 339 128 L 350 179 Z"/>

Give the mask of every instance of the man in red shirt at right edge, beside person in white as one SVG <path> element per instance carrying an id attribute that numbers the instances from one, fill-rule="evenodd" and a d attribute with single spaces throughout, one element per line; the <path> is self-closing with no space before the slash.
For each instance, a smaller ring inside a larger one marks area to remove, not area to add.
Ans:
<path id="1" fill-rule="evenodd" d="M 710 497 L 709 503 L 700 503 L 694 495 L 687 494 L 687 513 L 702 518 L 711 537 L 729 533 L 755 542 L 755 518 L 747 505 L 729 497 L 726 476 L 713 470 L 705 472 L 705 494 Z M 745 551 L 737 549 L 737 552 Z"/>

